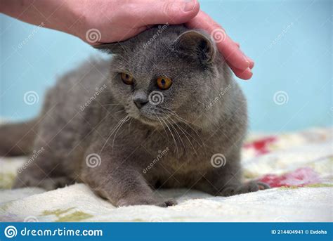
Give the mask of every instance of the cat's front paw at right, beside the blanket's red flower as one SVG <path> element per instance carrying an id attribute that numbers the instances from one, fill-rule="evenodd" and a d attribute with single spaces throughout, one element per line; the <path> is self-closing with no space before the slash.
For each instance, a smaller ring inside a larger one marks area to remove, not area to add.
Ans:
<path id="1" fill-rule="evenodd" d="M 270 188 L 266 183 L 260 181 L 249 181 L 242 185 L 228 185 L 223 190 L 221 190 L 218 195 L 223 197 L 233 196 L 242 193 L 252 193 L 259 190 L 265 190 Z"/>

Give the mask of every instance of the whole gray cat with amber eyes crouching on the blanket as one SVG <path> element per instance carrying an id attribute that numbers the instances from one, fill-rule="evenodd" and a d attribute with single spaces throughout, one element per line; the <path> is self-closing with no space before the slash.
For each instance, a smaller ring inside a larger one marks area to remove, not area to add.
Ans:
<path id="1" fill-rule="evenodd" d="M 247 102 L 208 34 L 164 25 L 98 48 L 112 59 L 65 74 L 37 119 L 1 126 L 0 154 L 31 157 L 15 188 L 79 181 L 116 206 L 160 207 L 176 202 L 156 188 L 269 188 L 242 183 Z"/>

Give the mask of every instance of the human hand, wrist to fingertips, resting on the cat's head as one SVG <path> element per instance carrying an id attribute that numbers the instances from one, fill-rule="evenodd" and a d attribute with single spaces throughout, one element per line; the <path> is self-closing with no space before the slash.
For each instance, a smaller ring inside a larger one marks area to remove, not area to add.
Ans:
<path id="1" fill-rule="evenodd" d="M 76 4 L 76 3 L 74 3 Z M 218 51 L 226 58 L 231 70 L 241 79 L 252 77 L 254 61 L 245 56 L 240 45 L 235 43 L 225 30 L 209 15 L 199 11 L 197 1 L 101 1 L 96 11 L 95 2 L 79 4 L 84 15 L 80 38 L 89 44 L 122 41 L 146 30 L 150 25 L 181 24 L 207 31 L 216 41 Z M 74 7 L 73 7 L 74 8 Z M 115 9 L 115 11 L 109 11 Z M 185 11 L 186 10 L 186 11 Z M 105 16 L 105 18 L 100 18 Z M 89 38 L 89 30 L 91 32 Z"/>

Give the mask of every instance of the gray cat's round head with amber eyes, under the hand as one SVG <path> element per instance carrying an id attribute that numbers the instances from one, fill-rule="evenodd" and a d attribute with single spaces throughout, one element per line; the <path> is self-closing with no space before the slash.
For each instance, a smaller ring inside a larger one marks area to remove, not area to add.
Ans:
<path id="1" fill-rule="evenodd" d="M 207 105 L 230 79 L 209 34 L 183 26 L 152 27 L 98 48 L 115 55 L 112 96 L 131 117 L 153 126 L 209 120 Z"/>

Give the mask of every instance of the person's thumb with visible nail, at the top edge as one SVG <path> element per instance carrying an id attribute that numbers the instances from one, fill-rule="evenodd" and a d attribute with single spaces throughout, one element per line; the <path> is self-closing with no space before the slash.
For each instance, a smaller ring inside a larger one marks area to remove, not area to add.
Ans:
<path id="1" fill-rule="evenodd" d="M 197 0 L 141 1 L 132 14 L 141 19 L 145 25 L 166 22 L 181 24 L 194 18 L 199 12 L 199 8 Z"/>

